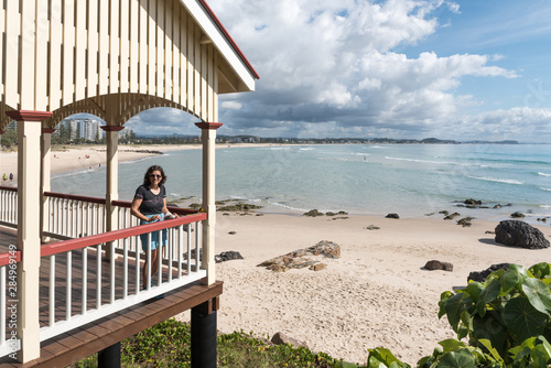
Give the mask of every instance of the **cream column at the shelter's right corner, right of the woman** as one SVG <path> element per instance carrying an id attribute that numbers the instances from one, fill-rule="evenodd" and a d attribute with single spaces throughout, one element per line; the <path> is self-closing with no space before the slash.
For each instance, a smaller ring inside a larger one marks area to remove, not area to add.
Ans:
<path id="1" fill-rule="evenodd" d="M 203 140 L 203 209 L 207 213 L 207 219 L 203 220 L 203 260 L 201 267 L 207 270 L 207 277 L 202 280 L 203 284 L 210 285 L 216 281 L 215 274 L 215 226 L 216 226 L 216 129 L 222 127 L 220 122 L 197 122 L 202 130 Z"/>

